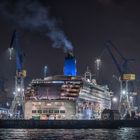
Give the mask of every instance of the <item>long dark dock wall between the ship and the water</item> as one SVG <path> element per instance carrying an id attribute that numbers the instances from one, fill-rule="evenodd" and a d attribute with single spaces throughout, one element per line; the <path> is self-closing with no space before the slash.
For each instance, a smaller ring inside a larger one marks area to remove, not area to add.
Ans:
<path id="1" fill-rule="evenodd" d="M 0 128 L 88 129 L 140 127 L 140 120 L 0 120 Z"/>

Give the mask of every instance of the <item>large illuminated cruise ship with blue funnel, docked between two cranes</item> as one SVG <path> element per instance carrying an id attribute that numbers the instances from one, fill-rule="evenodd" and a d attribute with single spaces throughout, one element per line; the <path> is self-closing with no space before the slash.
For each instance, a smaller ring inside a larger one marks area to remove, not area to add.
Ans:
<path id="1" fill-rule="evenodd" d="M 24 118 L 39 120 L 100 119 L 111 108 L 111 92 L 92 79 L 89 69 L 77 76 L 76 60 L 68 53 L 64 74 L 33 79 L 25 91 Z"/>

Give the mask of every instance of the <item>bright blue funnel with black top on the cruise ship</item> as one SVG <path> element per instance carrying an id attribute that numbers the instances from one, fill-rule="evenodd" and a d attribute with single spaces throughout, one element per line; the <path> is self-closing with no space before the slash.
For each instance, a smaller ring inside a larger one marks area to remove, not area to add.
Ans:
<path id="1" fill-rule="evenodd" d="M 66 54 L 64 60 L 64 75 L 65 76 L 76 76 L 76 60 L 72 52 Z"/>

